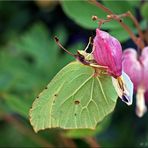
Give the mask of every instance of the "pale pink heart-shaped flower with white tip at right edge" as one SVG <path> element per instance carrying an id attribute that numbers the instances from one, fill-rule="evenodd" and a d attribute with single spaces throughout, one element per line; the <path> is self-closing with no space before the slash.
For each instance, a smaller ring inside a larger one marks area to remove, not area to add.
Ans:
<path id="1" fill-rule="evenodd" d="M 140 56 L 132 49 L 123 52 L 123 70 L 130 76 L 134 83 L 136 95 L 136 113 L 142 117 L 147 110 L 145 93 L 148 91 L 148 47 L 142 50 Z"/>

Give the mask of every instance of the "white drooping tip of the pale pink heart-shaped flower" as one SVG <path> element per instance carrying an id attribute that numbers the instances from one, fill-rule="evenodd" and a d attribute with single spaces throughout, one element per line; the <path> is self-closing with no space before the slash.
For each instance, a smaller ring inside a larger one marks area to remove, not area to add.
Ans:
<path id="1" fill-rule="evenodd" d="M 139 87 L 137 90 L 137 95 L 136 95 L 136 115 L 140 118 L 143 117 L 143 115 L 147 111 L 144 93 L 145 93 L 145 90 Z"/>

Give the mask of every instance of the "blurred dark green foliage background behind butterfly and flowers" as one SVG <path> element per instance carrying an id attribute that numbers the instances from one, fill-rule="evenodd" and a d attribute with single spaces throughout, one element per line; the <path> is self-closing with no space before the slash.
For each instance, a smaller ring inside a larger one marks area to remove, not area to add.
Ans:
<path id="1" fill-rule="evenodd" d="M 148 2 L 101 2 L 117 14 L 132 11 L 148 40 Z M 119 100 L 95 131 L 48 129 L 36 134 L 29 123 L 36 96 L 74 60 L 54 36 L 73 53 L 84 49 L 98 25 L 92 15 L 105 18 L 106 13 L 87 1 L 0 1 L 0 147 L 148 147 L 148 114 L 139 119 L 135 101 L 127 107 Z M 136 34 L 130 19 L 124 21 Z M 103 29 L 117 37 L 123 49 L 135 47 L 116 22 Z"/>

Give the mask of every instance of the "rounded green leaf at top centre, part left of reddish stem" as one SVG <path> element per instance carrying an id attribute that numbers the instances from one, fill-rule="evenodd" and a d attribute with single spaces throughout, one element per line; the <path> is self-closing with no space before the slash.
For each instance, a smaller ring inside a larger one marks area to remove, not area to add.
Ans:
<path id="1" fill-rule="evenodd" d="M 93 15 L 104 18 L 105 13 L 87 1 L 61 1 L 64 12 L 84 28 L 95 29 L 98 23 L 92 21 Z"/>

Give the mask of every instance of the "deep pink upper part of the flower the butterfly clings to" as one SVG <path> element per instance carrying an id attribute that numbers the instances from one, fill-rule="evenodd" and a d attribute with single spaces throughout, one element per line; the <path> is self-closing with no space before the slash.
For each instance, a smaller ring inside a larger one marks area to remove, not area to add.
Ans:
<path id="1" fill-rule="evenodd" d="M 93 43 L 93 56 L 101 66 L 107 66 L 108 72 L 117 78 L 122 74 L 122 47 L 119 41 L 105 31 L 96 29 Z"/>

